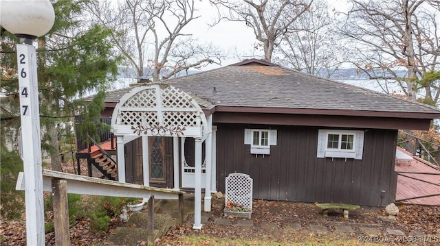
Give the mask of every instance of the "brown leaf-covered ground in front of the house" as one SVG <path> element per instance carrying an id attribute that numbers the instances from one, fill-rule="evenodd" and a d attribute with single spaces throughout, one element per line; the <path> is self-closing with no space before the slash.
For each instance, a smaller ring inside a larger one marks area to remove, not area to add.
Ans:
<path id="1" fill-rule="evenodd" d="M 73 165 L 63 171 L 74 173 Z M 87 173 L 83 170 L 82 173 Z M 213 197 L 212 204 L 221 204 Z M 91 206 L 92 204 L 88 204 Z M 157 245 L 357 245 L 361 227 L 377 228 L 377 235 L 385 236 L 386 230 L 401 230 L 406 236 L 425 235 L 439 240 L 423 245 L 440 245 L 440 206 L 400 205 L 397 222 L 382 221 L 383 208 L 366 208 L 350 212 L 350 219 L 344 219 L 339 211 L 330 211 L 329 217 L 323 217 L 314 204 L 289 201 L 254 200 L 252 204 L 254 226 L 241 227 L 235 219 L 229 224 L 214 223 L 223 215 L 223 206 L 213 206 L 210 218 L 203 223 L 202 230 L 192 230 L 192 217 L 183 226 L 173 227 L 168 234 L 156 241 Z M 51 212 L 45 218 L 53 219 Z M 77 221 L 70 229 L 72 245 L 111 245 L 107 241 L 115 227 L 123 226 L 119 217 L 113 217 L 109 230 L 93 233 L 88 219 Z M 299 223 L 300 230 L 289 228 L 292 223 Z M 325 225 L 329 232 L 313 232 L 310 225 Z M 337 225 L 349 225 L 354 232 L 340 234 Z M 0 245 L 26 245 L 25 215 L 21 219 L 0 218 Z M 54 232 L 46 234 L 46 245 L 55 245 Z M 296 244 L 298 242 L 303 242 Z M 308 243 L 305 243 L 308 242 Z M 138 245 L 146 245 L 140 242 Z M 361 245 L 366 245 L 362 243 Z"/>

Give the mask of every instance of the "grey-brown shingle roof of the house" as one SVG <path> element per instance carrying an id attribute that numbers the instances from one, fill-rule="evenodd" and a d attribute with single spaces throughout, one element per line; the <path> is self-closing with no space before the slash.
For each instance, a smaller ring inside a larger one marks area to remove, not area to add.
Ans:
<path id="1" fill-rule="evenodd" d="M 162 81 L 215 106 L 434 114 L 440 110 L 373 90 L 323 79 L 259 60 Z M 110 93 L 106 101 L 118 99 Z M 203 107 L 203 106 L 202 106 Z M 298 112 L 298 111 L 297 111 Z M 419 118 L 419 117 L 415 117 Z M 426 118 L 422 117 L 422 118 Z M 432 118 L 431 118 L 432 119 Z"/>

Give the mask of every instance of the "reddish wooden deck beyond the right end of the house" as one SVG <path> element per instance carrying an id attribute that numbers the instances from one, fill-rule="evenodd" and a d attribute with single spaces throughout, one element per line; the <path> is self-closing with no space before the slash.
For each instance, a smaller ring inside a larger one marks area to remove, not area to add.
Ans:
<path id="1" fill-rule="evenodd" d="M 397 149 L 400 152 L 405 153 L 407 156 L 412 157 L 412 155 L 408 151 L 405 151 L 404 149 L 401 149 L 399 147 L 397 147 Z M 424 164 L 423 162 L 419 162 L 416 159 L 399 160 L 395 165 L 395 171 L 440 174 L 439 170 L 429 167 L 427 164 Z M 404 177 L 404 175 L 408 177 Z M 410 177 L 417 178 L 418 180 L 412 179 Z M 426 182 L 422 182 L 419 180 L 424 180 Z M 434 195 L 434 194 L 439 194 L 439 195 L 433 197 L 408 199 L 412 197 L 421 197 L 425 195 Z M 397 201 L 403 200 L 402 202 L 404 202 L 405 204 L 440 206 L 440 175 L 413 174 L 413 173 L 401 173 L 397 175 L 396 200 Z"/>

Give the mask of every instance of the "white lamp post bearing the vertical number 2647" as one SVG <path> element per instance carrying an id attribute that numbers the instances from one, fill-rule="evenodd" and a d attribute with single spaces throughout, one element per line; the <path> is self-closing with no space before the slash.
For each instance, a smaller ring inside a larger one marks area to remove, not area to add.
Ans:
<path id="1" fill-rule="evenodd" d="M 43 176 L 39 88 L 35 47 L 17 44 L 23 170 L 25 175 L 26 235 L 28 245 L 44 245 Z"/>

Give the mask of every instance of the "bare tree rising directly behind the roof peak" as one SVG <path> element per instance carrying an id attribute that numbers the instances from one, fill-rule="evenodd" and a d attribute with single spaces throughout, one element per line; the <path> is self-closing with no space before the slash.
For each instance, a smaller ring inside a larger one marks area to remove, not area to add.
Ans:
<path id="1" fill-rule="evenodd" d="M 286 32 L 294 31 L 294 22 L 307 12 L 313 0 L 210 0 L 219 19 L 240 21 L 254 30 L 263 44 L 264 58 L 272 62 L 272 53 Z"/>

